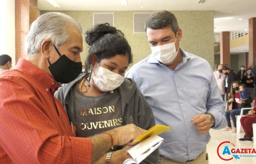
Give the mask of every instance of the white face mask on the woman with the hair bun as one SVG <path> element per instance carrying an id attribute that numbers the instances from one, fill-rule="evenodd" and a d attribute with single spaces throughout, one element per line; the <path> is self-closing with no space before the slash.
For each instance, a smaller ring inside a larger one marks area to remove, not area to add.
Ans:
<path id="1" fill-rule="evenodd" d="M 99 67 L 97 75 L 93 76 L 93 81 L 101 91 L 108 92 L 119 87 L 123 83 L 124 77 L 106 68 Z"/>

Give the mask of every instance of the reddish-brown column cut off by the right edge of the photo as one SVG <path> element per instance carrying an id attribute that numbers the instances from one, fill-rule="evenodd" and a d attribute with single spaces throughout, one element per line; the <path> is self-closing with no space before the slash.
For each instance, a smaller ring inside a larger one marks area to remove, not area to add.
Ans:
<path id="1" fill-rule="evenodd" d="M 249 67 L 254 66 L 254 59 L 256 57 L 256 18 L 249 19 Z"/>

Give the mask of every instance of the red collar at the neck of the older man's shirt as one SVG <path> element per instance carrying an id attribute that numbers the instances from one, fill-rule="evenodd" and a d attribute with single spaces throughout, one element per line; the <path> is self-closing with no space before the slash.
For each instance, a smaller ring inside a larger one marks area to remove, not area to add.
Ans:
<path id="1" fill-rule="evenodd" d="M 19 68 L 29 74 L 35 81 L 38 82 L 39 85 L 43 87 L 43 89 L 45 89 L 46 91 L 50 91 L 51 94 L 54 94 L 54 92 L 57 91 L 58 88 L 61 86 L 43 70 L 23 58 L 19 59 L 16 68 Z"/>

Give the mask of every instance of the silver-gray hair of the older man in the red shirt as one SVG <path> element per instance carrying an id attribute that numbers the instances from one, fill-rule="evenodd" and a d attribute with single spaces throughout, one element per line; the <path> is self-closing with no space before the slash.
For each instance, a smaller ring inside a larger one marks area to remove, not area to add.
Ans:
<path id="1" fill-rule="evenodd" d="M 50 39 L 58 48 L 69 38 L 67 27 L 73 25 L 82 34 L 81 24 L 67 14 L 48 12 L 40 15 L 32 24 L 27 36 L 27 55 L 35 55 L 41 49 L 43 40 Z"/>

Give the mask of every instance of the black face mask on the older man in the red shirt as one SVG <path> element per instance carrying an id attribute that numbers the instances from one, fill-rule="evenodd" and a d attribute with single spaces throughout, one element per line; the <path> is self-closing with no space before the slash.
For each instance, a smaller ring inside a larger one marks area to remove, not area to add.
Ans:
<path id="1" fill-rule="evenodd" d="M 54 48 L 60 55 L 60 58 L 53 64 L 47 59 L 50 65 L 48 68 L 57 82 L 69 83 L 81 73 L 82 62 L 73 62 L 65 54 L 61 56 L 59 50 L 55 46 Z"/>

